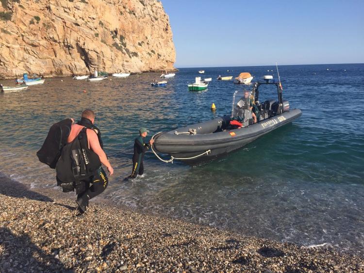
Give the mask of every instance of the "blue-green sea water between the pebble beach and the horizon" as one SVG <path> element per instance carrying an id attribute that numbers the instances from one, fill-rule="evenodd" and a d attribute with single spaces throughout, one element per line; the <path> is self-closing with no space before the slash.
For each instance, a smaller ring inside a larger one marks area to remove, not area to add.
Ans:
<path id="1" fill-rule="evenodd" d="M 254 80 L 276 76 L 275 66 L 182 68 L 166 87 L 151 87 L 159 74 L 144 73 L 100 82 L 53 78 L 24 92 L 0 94 L 1 173 L 60 191 L 54 171 L 35 153 L 51 124 L 77 119 L 90 108 L 115 168 L 99 201 L 363 255 L 364 64 L 281 66 L 283 97 L 302 110 L 299 119 L 198 167 L 165 164 L 148 153 L 144 177 L 122 182 L 131 173 L 139 127 L 154 134 L 229 113 L 232 94 L 242 87 L 215 79 L 245 71 Z M 198 76 L 213 81 L 205 91 L 188 92 L 187 83 Z M 261 101 L 267 98 L 275 93 L 261 93 Z M 210 110 L 213 102 L 216 113 Z"/>

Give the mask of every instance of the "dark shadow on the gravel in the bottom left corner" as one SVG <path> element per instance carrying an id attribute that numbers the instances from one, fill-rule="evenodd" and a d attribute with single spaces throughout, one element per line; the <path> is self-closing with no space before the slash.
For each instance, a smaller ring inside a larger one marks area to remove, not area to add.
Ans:
<path id="1" fill-rule="evenodd" d="M 0 228 L 1 272 L 73 272 L 56 258 L 57 253 L 46 254 L 32 243 L 29 236 L 15 235 L 9 228 Z"/>

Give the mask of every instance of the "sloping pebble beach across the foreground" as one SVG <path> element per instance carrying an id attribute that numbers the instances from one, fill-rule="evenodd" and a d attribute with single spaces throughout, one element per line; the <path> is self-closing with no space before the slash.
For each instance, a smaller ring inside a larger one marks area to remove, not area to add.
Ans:
<path id="1" fill-rule="evenodd" d="M 364 258 L 91 203 L 0 177 L 0 272 L 364 272 Z"/>

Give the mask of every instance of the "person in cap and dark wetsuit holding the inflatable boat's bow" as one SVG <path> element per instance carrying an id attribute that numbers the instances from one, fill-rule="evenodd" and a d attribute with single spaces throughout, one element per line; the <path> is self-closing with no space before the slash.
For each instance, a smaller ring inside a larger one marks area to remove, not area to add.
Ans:
<path id="1" fill-rule="evenodd" d="M 143 158 L 146 151 L 154 143 L 154 139 L 149 140 L 149 143 L 144 142 L 144 138 L 148 135 L 149 130 L 146 128 L 139 129 L 139 136 L 134 141 L 134 154 L 132 156 L 132 175 L 127 178 L 135 178 L 137 175 L 143 175 L 144 166 Z"/>

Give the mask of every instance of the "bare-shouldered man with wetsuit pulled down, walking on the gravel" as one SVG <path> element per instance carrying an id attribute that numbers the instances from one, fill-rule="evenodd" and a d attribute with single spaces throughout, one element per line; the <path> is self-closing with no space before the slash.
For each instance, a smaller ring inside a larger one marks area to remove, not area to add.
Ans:
<path id="1" fill-rule="evenodd" d="M 106 166 L 109 175 L 112 176 L 114 169 L 111 166 L 105 152 L 102 150 L 102 141 L 99 137 L 99 130 L 95 129 L 94 124 L 95 113 L 92 110 L 85 110 L 82 112 L 81 121 L 78 124 L 72 124 L 67 143 L 71 143 L 79 136 L 83 128 L 86 128 L 86 135 L 88 140 L 88 148 L 99 156 L 99 160 Z M 80 214 L 86 211 L 88 207 L 88 200 L 102 193 L 108 185 L 108 179 L 105 171 L 100 166 L 94 174 L 87 178 L 78 181 L 76 185 L 76 193 L 78 209 Z"/>

